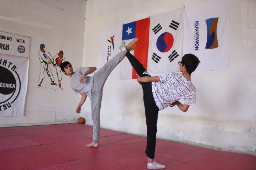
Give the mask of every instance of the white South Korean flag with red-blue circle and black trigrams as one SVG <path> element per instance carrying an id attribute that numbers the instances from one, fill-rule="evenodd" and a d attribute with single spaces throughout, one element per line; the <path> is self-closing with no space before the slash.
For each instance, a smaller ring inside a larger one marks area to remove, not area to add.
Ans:
<path id="1" fill-rule="evenodd" d="M 184 7 L 150 16 L 149 73 L 179 71 L 182 58 Z"/>

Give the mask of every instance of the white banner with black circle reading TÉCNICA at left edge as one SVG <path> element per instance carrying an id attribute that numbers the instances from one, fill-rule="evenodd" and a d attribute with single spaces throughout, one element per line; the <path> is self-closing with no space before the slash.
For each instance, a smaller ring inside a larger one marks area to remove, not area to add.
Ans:
<path id="1" fill-rule="evenodd" d="M 28 57 L 0 54 L 0 117 L 24 115 L 28 64 Z"/>

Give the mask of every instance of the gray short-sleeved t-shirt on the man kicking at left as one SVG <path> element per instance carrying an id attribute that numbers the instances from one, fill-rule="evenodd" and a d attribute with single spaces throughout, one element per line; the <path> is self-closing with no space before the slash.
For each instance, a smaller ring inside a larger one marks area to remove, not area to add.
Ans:
<path id="1" fill-rule="evenodd" d="M 91 97 L 92 82 L 93 78 L 90 76 L 85 76 L 84 83 L 80 83 L 79 79 L 83 73 L 86 72 L 87 67 L 80 67 L 75 70 L 75 73 L 71 77 L 70 86 L 75 93 L 81 92 Z"/>

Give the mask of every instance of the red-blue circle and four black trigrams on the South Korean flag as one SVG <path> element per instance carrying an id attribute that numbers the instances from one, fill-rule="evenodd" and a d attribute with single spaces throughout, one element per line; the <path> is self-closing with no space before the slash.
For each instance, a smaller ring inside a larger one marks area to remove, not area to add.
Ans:
<path id="1" fill-rule="evenodd" d="M 176 21 L 171 21 L 169 27 L 173 30 L 177 30 L 179 27 L 179 23 Z M 157 33 L 163 29 L 163 27 L 160 25 L 160 23 L 158 23 L 153 29 L 152 31 L 154 32 L 155 35 L 157 35 Z M 157 38 L 156 41 L 156 47 L 157 49 L 162 52 L 162 53 L 166 53 L 169 52 L 170 49 L 173 47 L 173 43 L 174 43 L 174 38 L 173 38 L 173 34 L 169 33 L 169 32 L 164 32 L 162 34 L 159 35 L 159 37 Z M 175 58 L 177 58 L 179 56 L 179 54 L 177 53 L 176 50 L 174 50 L 173 52 L 171 52 L 171 54 L 168 56 L 168 59 L 170 60 L 170 62 L 172 62 Z M 152 55 L 152 60 L 156 63 L 158 63 L 161 60 L 161 56 L 157 54 L 157 52 L 154 52 Z"/>

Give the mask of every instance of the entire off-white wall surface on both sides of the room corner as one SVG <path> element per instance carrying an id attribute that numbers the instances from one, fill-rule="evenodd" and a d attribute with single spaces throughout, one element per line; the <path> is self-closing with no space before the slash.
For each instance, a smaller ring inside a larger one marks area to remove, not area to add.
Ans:
<path id="1" fill-rule="evenodd" d="M 53 54 L 63 50 L 74 68 L 97 66 L 100 30 L 200 1 L 1 0 L 0 30 L 31 37 L 31 45 L 25 116 L 0 117 L 0 127 L 76 122 L 79 117 L 75 108 L 80 96 L 72 92 L 67 76 L 62 75 L 63 89 L 53 88 L 47 77 L 38 88 L 40 44 Z M 160 111 L 157 137 L 255 154 L 255 12 L 254 0 L 231 0 L 230 69 L 193 73 L 197 105 L 186 113 L 176 107 Z M 92 125 L 90 113 L 87 100 L 81 117 Z M 136 80 L 108 78 L 101 126 L 146 135 L 142 89 Z"/>

